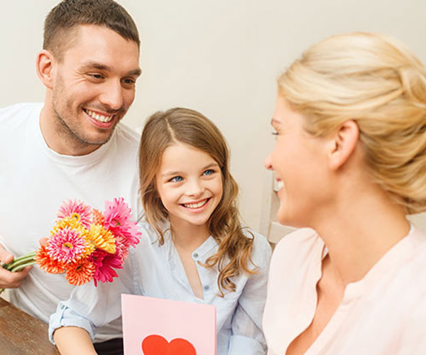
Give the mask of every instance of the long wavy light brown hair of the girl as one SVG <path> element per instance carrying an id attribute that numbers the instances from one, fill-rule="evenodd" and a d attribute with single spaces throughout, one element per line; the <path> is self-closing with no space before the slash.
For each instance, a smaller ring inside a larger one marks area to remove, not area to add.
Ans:
<path id="1" fill-rule="evenodd" d="M 222 171 L 223 195 L 207 222 L 209 233 L 219 244 L 217 253 L 202 264 L 207 268 L 217 267 L 217 285 L 220 295 L 233 292 L 233 278 L 242 273 L 256 273 L 250 267 L 253 249 L 253 234 L 244 234 L 236 206 L 238 185 L 229 172 L 229 149 L 222 133 L 200 112 L 192 109 L 174 108 L 158 111 L 148 118 L 143 128 L 139 148 L 139 175 L 141 198 L 146 219 L 158 232 L 159 244 L 164 244 L 163 226 L 168 211 L 160 200 L 155 187 L 155 175 L 165 148 L 175 143 L 185 143 L 212 156 Z"/>

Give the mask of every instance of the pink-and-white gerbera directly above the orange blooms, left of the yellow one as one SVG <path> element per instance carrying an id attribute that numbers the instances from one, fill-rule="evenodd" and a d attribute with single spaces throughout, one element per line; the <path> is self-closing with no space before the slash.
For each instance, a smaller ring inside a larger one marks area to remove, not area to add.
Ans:
<path id="1" fill-rule="evenodd" d="M 71 263 L 87 254 L 87 242 L 76 229 L 58 229 L 48 241 L 48 255 L 61 263 Z"/>

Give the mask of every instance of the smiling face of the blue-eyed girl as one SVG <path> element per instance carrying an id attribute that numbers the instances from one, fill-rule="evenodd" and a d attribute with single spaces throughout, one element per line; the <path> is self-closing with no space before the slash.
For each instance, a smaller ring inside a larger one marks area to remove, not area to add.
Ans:
<path id="1" fill-rule="evenodd" d="M 222 172 L 216 160 L 184 143 L 165 148 L 155 182 L 171 224 L 202 226 L 222 199 Z"/>

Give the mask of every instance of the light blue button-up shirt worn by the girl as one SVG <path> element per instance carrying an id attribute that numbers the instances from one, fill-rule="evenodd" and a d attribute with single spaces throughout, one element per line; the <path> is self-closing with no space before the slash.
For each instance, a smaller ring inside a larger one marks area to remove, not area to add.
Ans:
<path id="1" fill-rule="evenodd" d="M 263 355 L 266 341 L 261 330 L 263 307 L 266 301 L 268 267 L 271 247 L 264 236 L 254 235 L 251 260 L 258 267 L 255 275 L 241 274 L 234 278 L 236 291 L 219 297 L 217 270 L 204 268 L 209 256 L 217 252 L 218 244 L 212 236 L 199 246 L 192 258 L 202 283 L 204 300 L 195 297 L 187 279 L 178 251 L 170 233 L 159 246 L 157 234 L 146 223 L 141 223 L 143 236 L 136 249 L 131 249 L 124 269 L 114 283 L 92 283 L 75 288 L 69 300 L 60 302 L 50 317 L 49 337 L 58 327 L 82 327 L 94 338 L 97 327 L 121 316 L 121 293 L 167 298 L 216 306 L 217 354 Z"/>

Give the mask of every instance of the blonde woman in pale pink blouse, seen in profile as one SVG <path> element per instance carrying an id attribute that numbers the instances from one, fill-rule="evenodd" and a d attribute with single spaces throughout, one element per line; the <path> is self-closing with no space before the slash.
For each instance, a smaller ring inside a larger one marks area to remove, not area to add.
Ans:
<path id="1" fill-rule="evenodd" d="M 278 79 L 265 165 L 285 236 L 268 354 L 426 354 L 426 71 L 383 35 L 335 35 Z"/>

